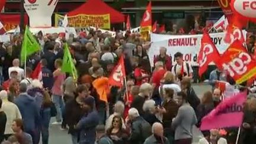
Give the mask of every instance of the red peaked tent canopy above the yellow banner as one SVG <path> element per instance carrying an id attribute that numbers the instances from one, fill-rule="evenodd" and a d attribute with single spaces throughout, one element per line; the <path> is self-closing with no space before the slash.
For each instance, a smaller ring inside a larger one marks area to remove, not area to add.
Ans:
<path id="1" fill-rule="evenodd" d="M 101 15 L 110 14 L 110 23 L 123 23 L 124 15 L 101 0 L 88 0 L 79 8 L 68 12 L 69 16 L 78 14 Z"/>

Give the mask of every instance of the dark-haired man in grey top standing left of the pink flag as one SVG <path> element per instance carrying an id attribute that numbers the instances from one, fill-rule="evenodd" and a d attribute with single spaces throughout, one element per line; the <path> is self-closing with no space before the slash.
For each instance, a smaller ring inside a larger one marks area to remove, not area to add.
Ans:
<path id="1" fill-rule="evenodd" d="M 196 113 L 188 104 L 187 95 L 184 92 L 178 92 L 177 100 L 180 108 L 177 116 L 172 120 L 172 128 L 175 129 L 175 144 L 191 144 L 193 126 L 197 123 Z"/>

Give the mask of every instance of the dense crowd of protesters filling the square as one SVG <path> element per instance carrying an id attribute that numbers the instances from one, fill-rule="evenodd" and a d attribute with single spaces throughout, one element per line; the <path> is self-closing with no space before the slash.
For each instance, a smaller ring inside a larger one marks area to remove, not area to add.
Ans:
<path id="1" fill-rule="evenodd" d="M 191 144 L 193 129 L 223 100 L 217 81 L 233 85 L 229 75 L 219 69 L 210 73 L 210 91 L 202 97 L 193 89 L 197 78 L 183 54 L 171 57 L 165 47 L 154 59 L 153 71 L 147 51 L 150 43 L 137 33 L 116 37 L 101 31 L 79 33 L 78 37 L 39 32 L 35 36 L 41 51 L 19 60 L 21 36 L 0 46 L 0 142 L 49 143 L 51 117 L 61 130 L 68 130 L 72 143 Z M 253 37 L 249 37 L 253 39 Z M 255 41 L 255 39 L 254 39 Z M 251 48 L 254 48 L 254 41 Z M 63 45 L 67 42 L 79 78 L 63 73 Z M 92 85 L 95 79 L 108 77 L 121 55 L 124 56 L 126 87 L 111 87 L 108 103 L 99 98 Z M 32 73 L 38 63 L 40 78 Z M 197 69 L 198 71 L 198 69 Z M 254 82 L 255 84 L 255 82 Z M 237 91 L 255 92 L 256 85 L 243 85 Z M 248 97 L 239 142 L 256 142 L 256 99 Z M 97 126 L 105 125 L 105 135 L 97 135 Z M 235 143 L 238 127 L 203 131 L 199 143 Z"/>

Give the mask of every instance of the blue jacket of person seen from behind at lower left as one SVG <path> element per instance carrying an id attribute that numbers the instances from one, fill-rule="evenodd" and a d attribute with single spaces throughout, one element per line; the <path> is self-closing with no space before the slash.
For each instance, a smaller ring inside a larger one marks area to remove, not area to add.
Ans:
<path id="1" fill-rule="evenodd" d="M 36 104 L 33 97 L 27 93 L 21 93 L 14 103 L 20 109 L 25 132 L 30 132 L 40 126 L 40 107 Z"/>

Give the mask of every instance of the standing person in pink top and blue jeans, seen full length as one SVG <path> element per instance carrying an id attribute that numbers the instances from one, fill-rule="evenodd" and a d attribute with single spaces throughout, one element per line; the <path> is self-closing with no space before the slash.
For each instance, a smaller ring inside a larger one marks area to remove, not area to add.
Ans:
<path id="1" fill-rule="evenodd" d="M 55 104 L 57 110 L 56 121 L 52 124 L 62 124 L 62 110 L 64 107 L 63 103 L 63 89 L 62 85 L 65 80 L 65 73 L 61 71 L 62 60 L 55 60 L 55 68 L 56 70 L 53 72 L 53 78 L 55 79 L 53 87 L 52 87 L 52 100 Z"/>

